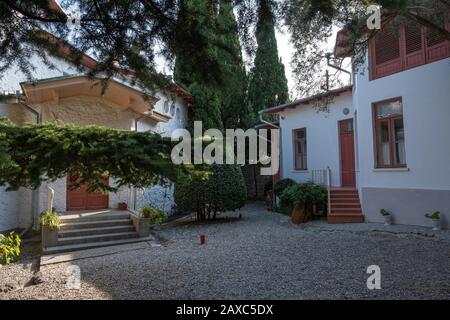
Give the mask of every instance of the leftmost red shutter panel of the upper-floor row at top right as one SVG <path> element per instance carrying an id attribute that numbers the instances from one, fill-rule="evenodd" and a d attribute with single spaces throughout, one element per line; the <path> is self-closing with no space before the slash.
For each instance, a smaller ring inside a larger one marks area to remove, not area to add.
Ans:
<path id="1" fill-rule="evenodd" d="M 402 70 L 400 32 L 398 28 L 384 27 L 373 41 L 373 78 L 385 77 Z"/>

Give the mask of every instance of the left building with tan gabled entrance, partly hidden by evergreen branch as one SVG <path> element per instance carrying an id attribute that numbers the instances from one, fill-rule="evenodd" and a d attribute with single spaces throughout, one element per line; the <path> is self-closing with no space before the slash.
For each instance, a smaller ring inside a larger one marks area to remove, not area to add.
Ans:
<path id="1" fill-rule="evenodd" d="M 39 57 L 31 59 L 36 67 L 34 81 L 12 66 L 0 78 L 0 93 L 18 92 L 10 100 L 0 102 L 0 117 L 23 124 L 26 122 L 73 123 L 101 125 L 123 130 L 154 131 L 170 136 L 187 124 L 188 105 L 192 97 L 173 84 L 165 91 L 144 99 L 143 88 L 129 84 L 126 78 L 110 79 L 105 94 L 101 77 L 90 79 L 70 63 L 50 57 L 55 69 L 49 69 Z M 89 56 L 81 60 L 89 71 L 96 61 Z M 110 179 L 110 184 L 114 181 Z M 58 212 L 116 208 L 126 202 L 131 209 L 152 205 L 167 213 L 173 207 L 172 188 L 155 186 L 146 190 L 122 188 L 117 193 L 99 195 L 70 190 L 67 179 L 44 183 L 39 193 L 29 189 L 6 192 L 0 188 L 0 231 L 36 225 L 38 214 L 46 209 L 46 186 L 55 190 L 54 207 Z"/>

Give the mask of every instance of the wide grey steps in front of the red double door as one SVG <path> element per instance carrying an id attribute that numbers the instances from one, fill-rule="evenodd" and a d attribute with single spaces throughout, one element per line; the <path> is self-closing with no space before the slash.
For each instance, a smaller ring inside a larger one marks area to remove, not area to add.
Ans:
<path id="1" fill-rule="evenodd" d="M 44 254 L 55 254 L 143 240 L 147 239 L 139 238 L 129 212 L 67 214 L 61 216 L 57 245 L 43 251 Z"/>

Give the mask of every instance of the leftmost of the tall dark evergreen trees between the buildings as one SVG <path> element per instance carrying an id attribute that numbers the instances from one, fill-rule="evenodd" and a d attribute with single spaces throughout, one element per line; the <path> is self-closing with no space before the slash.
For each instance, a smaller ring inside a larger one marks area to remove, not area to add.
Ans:
<path id="1" fill-rule="evenodd" d="M 194 106 L 189 109 L 189 122 L 202 121 L 203 128 L 223 129 L 220 104 L 220 69 L 217 42 L 217 12 L 213 0 L 183 0 L 180 4 L 178 26 L 191 30 L 183 32 L 200 34 L 201 37 L 182 39 L 190 43 L 176 52 L 174 79 L 187 89 L 195 98 Z M 201 48 L 201 49 L 199 49 Z"/>

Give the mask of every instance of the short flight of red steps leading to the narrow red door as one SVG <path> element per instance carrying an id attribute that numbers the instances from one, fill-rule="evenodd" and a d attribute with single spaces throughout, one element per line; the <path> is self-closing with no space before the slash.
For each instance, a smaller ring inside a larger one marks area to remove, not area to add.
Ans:
<path id="1" fill-rule="evenodd" d="M 358 190 L 353 188 L 333 188 L 330 190 L 331 213 L 328 223 L 364 222 Z"/>

